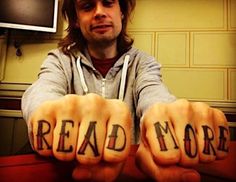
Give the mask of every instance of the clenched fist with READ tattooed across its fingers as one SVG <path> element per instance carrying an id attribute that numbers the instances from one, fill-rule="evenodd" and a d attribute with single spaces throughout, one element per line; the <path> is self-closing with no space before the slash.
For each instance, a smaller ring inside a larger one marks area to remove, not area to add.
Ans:
<path id="1" fill-rule="evenodd" d="M 129 154 L 131 114 L 119 100 L 66 95 L 40 105 L 30 124 L 34 150 L 63 161 L 76 159 L 76 179 L 114 180 Z"/>

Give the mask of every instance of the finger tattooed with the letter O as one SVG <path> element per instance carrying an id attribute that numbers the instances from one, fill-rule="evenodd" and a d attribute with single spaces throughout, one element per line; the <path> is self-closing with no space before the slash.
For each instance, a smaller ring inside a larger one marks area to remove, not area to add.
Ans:
<path id="1" fill-rule="evenodd" d="M 191 104 L 185 99 L 179 99 L 169 104 L 168 108 L 179 143 L 181 153 L 179 163 L 183 166 L 193 166 L 199 159 Z"/>

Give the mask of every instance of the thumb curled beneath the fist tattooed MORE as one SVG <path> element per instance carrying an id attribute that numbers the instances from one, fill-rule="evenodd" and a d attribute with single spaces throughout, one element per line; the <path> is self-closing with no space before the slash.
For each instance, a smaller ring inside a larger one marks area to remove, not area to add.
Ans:
<path id="1" fill-rule="evenodd" d="M 150 150 L 142 143 L 136 153 L 136 164 L 143 173 L 155 181 L 200 181 L 200 175 L 196 170 L 186 169 L 177 165 L 157 165 L 153 160 Z"/>

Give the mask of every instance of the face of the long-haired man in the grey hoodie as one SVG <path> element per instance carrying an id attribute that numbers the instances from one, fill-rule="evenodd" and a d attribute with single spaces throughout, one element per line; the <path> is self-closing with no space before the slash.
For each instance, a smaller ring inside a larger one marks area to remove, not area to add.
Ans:
<path id="1" fill-rule="evenodd" d="M 88 44 L 116 42 L 123 16 L 118 0 L 77 0 L 76 13 L 76 26 Z"/>

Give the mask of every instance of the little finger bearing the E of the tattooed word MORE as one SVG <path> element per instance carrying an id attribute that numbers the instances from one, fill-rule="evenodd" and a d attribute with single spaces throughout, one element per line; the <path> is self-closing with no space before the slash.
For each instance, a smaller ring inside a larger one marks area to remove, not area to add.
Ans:
<path id="1" fill-rule="evenodd" d="M 213 121 L 216 135 L 216 157 L 223 159 L 229 152 L 229 127 L 224 113 L 218 109 L 213 109 Z"/>

